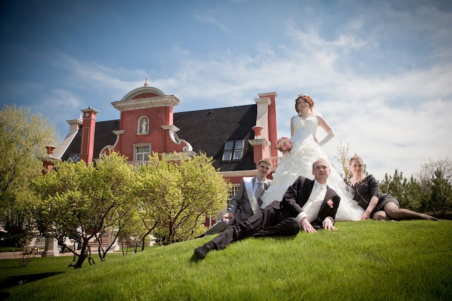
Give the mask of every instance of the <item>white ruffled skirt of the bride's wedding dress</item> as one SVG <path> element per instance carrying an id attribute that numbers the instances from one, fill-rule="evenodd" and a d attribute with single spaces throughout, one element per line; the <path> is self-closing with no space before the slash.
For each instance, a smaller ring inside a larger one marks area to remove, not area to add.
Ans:
<path id="1" fill-rule="evenodd" d="M 281 201 L 287 188 L 295 182 L 299 176 L 314 179 L 312 175 L 312 164 L 324 159 L 329 162 L 324 150 L 313 141 L 312 136 L 292 145 L 290 153 L 285 152 L 281 157 L 278 168 L 273 173 L 273 181 L 269 189 L 262 196 L 264 202 L 262 208 L 268 206 L 273 201 Z M 336 221 L 357 221 L 361 218 L 364 210 L 353 200 L 347 189 L 344 180 L 331 166 L 331 174 L 328 177 L 328 187 L 334 190 L 340 197 L 341 203 L 336 213 Z"/>

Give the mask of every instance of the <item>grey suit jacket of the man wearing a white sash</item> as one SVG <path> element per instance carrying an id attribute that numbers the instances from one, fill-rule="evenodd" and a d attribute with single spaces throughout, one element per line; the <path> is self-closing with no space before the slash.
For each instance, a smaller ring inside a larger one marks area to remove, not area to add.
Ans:
<path id="1" fill-rule="evenodd" d="M 256 181 L 256 177 L 253 178 L 252 184 Z M 267 191 L 268 187 L 272 183 L 272 180 L 265 179 L 264 180 L 264 193 Z M 263 195 L 263 194 L 262 194 Z M 261 196 L 262 196 L 261 195 Z M 262 206 L 261 197 L 257 199 L 259 207 Z M 254 215 L 253 209 L 251 208 L 250 200 L 248 199 L 247 189 L 245 188 L 245 183 L 242 180 L 240 183 L 239 190 L 236 195 L 229 202 L 228 212 L 233 213 L 235 215 L 235 223 L 243 222 L 244 220 L 249 219 L 252 215 Z"/>

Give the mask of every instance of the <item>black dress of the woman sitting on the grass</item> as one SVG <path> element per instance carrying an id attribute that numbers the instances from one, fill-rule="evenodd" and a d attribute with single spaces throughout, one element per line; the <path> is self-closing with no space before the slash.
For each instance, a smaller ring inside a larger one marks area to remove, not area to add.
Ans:
<path id="1" fill-rule="evenodd" d="M 367 176 L 356 184 L 350 183 L 349 180 L 347 181 L 347 185 L 354 190 L 355 197 L 353 199 L 357 201 L 364 210 L 366 210 L 369 206 L 373 196 L 378 197 L 377 206 L 374 211 L 372 211 L 370 217 L 373 217 L 377 211 L 383 211 L 385 205 L 389 202 L 396 203 L 400 208 L 400 204 L 396 198 L 385 193 L 380 193 L 380 187 L 378 187 L 377 179 L 375 179 L 372 175 Z"/>

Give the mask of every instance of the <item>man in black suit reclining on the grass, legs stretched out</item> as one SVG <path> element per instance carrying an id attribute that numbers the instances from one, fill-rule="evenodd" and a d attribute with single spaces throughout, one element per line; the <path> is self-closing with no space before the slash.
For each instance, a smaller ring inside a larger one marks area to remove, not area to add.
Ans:
<path id="1" fill-rule="evenodd" d="M 204 259 L 210 250 L 221 250 L 233 241 L 250 236 L 295 235 L 300 229 L 308 233 L 320 228 L 336 230 L 333 224 L 341 197 L 326 185 L 330 172 L 328 162 L 315 161 L 312 165 L 314 181 L 299 177 L 281 202 L 273 201 L 249 219 L 229 227 L 196 248 L 195 255 Z"/>

